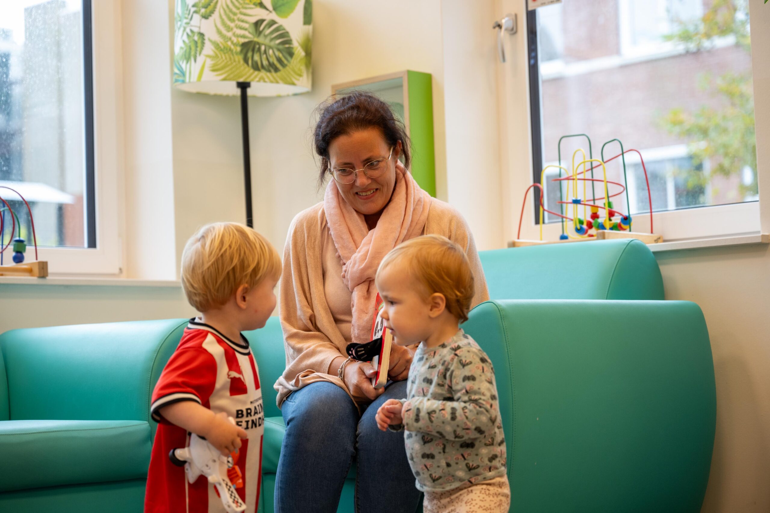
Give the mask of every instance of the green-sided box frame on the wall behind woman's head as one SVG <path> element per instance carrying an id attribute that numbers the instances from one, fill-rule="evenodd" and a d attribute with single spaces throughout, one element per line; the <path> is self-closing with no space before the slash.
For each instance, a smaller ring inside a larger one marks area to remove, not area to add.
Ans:
<path id="1" fill-rule="evenodd" d="M 332 95 L 366 91 L 382 98 L 407 127 L 412 141 L 411 173 L 423 190 L 436 195 L 433 88 L 430 73 L 403 72 L 332 85 Z"/>

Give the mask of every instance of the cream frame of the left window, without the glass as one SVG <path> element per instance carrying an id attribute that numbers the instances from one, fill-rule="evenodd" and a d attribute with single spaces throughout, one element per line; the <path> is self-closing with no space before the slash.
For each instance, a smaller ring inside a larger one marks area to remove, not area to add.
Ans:
<path id="1" fill-rule="evenodd" d="M 119 179 L 122 177 L 119 159 L 122 155 L 122 53 L 119 13 L 119 0 L 82 0 L 86 247 L 39 247 L 39 259 L 49 262 L 51 275 L 114 276 L 122 272 L 119 223 L 119 208 L 122 205 L 119 197 Z M 93 201 L 89 202 L 89 198 Z M 28 246 L 27 258 L 32 259 L 32 241 Z"/>

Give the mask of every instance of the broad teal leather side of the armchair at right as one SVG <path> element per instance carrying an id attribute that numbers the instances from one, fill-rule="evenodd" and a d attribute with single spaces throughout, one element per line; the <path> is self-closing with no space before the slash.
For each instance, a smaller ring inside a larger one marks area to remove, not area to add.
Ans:
<path id="1" fill-rule="evenodd" d="M 463 327 L 495 368 L 511 511 L 700 511 L 716 390 L 698 305 L 489 301 Z"/>

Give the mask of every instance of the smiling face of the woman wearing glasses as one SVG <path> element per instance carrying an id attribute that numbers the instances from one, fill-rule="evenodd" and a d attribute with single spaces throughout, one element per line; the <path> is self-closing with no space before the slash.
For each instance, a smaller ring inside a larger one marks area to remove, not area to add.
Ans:
<path id="1" fill-rule="evenodd" d="M 332 169 L 361 169 L 378 158 L 387 158 L 390 146 L 377 128 L 366 128 L 349 135 L 340 135 L 329 145 L 329 162 Z M 396 185 L 396 162 L 401 154 L 401 143 L 393 148 L 390 160 L 384 162 L 385 172 L 377 178 L 369 178 L 363 171 L 356 173 L 350 184 L 334 182 L 345 201 L 363 215 L 382 211 L 390 201 Z"/>

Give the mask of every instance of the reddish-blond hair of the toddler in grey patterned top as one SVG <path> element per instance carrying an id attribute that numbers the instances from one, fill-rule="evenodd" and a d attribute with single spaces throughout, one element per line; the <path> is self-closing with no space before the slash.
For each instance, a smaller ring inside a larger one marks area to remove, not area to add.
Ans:
<path id="1" fill-rule="evenodd" d="M 474 298 L 474 275 L 465 252 L 441 235 L 423 235 L 403 242 L 385 255 L 377 275 L 403 261 L 409 277 L 422 285 L 425 298 L 444 295 L 447 310 L 460 322 L 468 320 Z"/>

